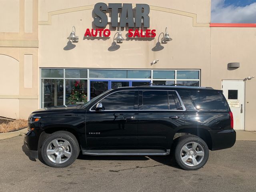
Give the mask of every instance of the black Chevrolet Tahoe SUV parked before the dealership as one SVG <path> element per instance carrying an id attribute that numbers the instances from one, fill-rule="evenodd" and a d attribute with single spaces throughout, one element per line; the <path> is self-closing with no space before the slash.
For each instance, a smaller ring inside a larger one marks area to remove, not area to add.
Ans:
<path id="1" fill-rule="evenodd" d="M 236 141 L 221 90 L 139 86 L 108 90 L 78 106 L 44 108 L 28 119 L 25 143 L 52 167 L 85 155 L 168 155 L 186 170 L 206 164 L 210 150 Z"/>

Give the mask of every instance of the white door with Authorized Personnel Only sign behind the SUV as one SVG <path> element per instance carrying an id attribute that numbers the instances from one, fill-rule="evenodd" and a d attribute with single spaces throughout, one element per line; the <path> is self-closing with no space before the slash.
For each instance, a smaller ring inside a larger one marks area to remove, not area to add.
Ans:
<path id="1" fill-rule="evenodd" d="M 222 80 L 222 90 L 234 116 L 234 129 L 244 130 L 244 81 Z"/>

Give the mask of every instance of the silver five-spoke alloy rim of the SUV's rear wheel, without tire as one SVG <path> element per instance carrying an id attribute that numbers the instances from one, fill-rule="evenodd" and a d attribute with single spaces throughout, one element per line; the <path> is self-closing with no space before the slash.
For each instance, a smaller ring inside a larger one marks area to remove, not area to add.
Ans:
<path id="1" fill-rule="evenodd" d="M 184 164 L 196 166 L 204 159 L 204 149 L 196 142 L 189 142 L 180 150 L 180 158 Z"/>

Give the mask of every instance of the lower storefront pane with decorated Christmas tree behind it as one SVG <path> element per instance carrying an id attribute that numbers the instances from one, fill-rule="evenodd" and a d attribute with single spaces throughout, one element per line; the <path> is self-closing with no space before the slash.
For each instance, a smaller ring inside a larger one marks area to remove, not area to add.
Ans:
<path id="1" fill-rule="evenodd" d="M 66 105 L 84 104 L 87 102 L 87 80 L 66 80 Z"/>

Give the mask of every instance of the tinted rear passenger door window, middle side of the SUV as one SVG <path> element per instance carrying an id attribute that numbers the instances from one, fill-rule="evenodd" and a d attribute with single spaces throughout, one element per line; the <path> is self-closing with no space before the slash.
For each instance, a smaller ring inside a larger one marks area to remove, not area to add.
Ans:
<path id="1" fill-rule="evenodd" d="M 143 91 L 143 110 L 168 110 L 168 91 Z"/>

